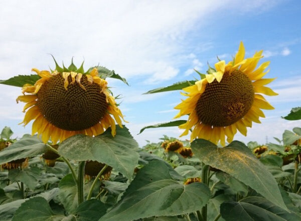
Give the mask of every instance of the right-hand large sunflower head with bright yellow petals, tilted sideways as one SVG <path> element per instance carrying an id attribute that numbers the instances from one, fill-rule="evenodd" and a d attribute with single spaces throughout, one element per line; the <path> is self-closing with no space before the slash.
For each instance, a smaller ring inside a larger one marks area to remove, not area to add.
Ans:
<path id="1" fill-rule="evenodd" d="M 269 61 L 256 69 L 261 54 L 262 50 L 244 58 L 241 42 L 232 61 L 218 61 L 215 69 L 209 67 L 208 74 L 201 74 L 201 80 L 183 88 L 182 94 L 188 98 L 175 107 L 180 110 L 175 118 L 189 115 L 187 122 L 179 126 L 185 129 L 181 136 L 192 130 L 191 141 L 202 138 L 225 146 L 225 137 L 230 143 L 237 130 L 246 136 L 252 122 L 260 123 L 259 117 L 265 117 L 261 109 L 274 109 L 261 95 L 277 95 L 264 86 L 275 78 L 262 78 L 268 72 L 265 69 Z"/>

